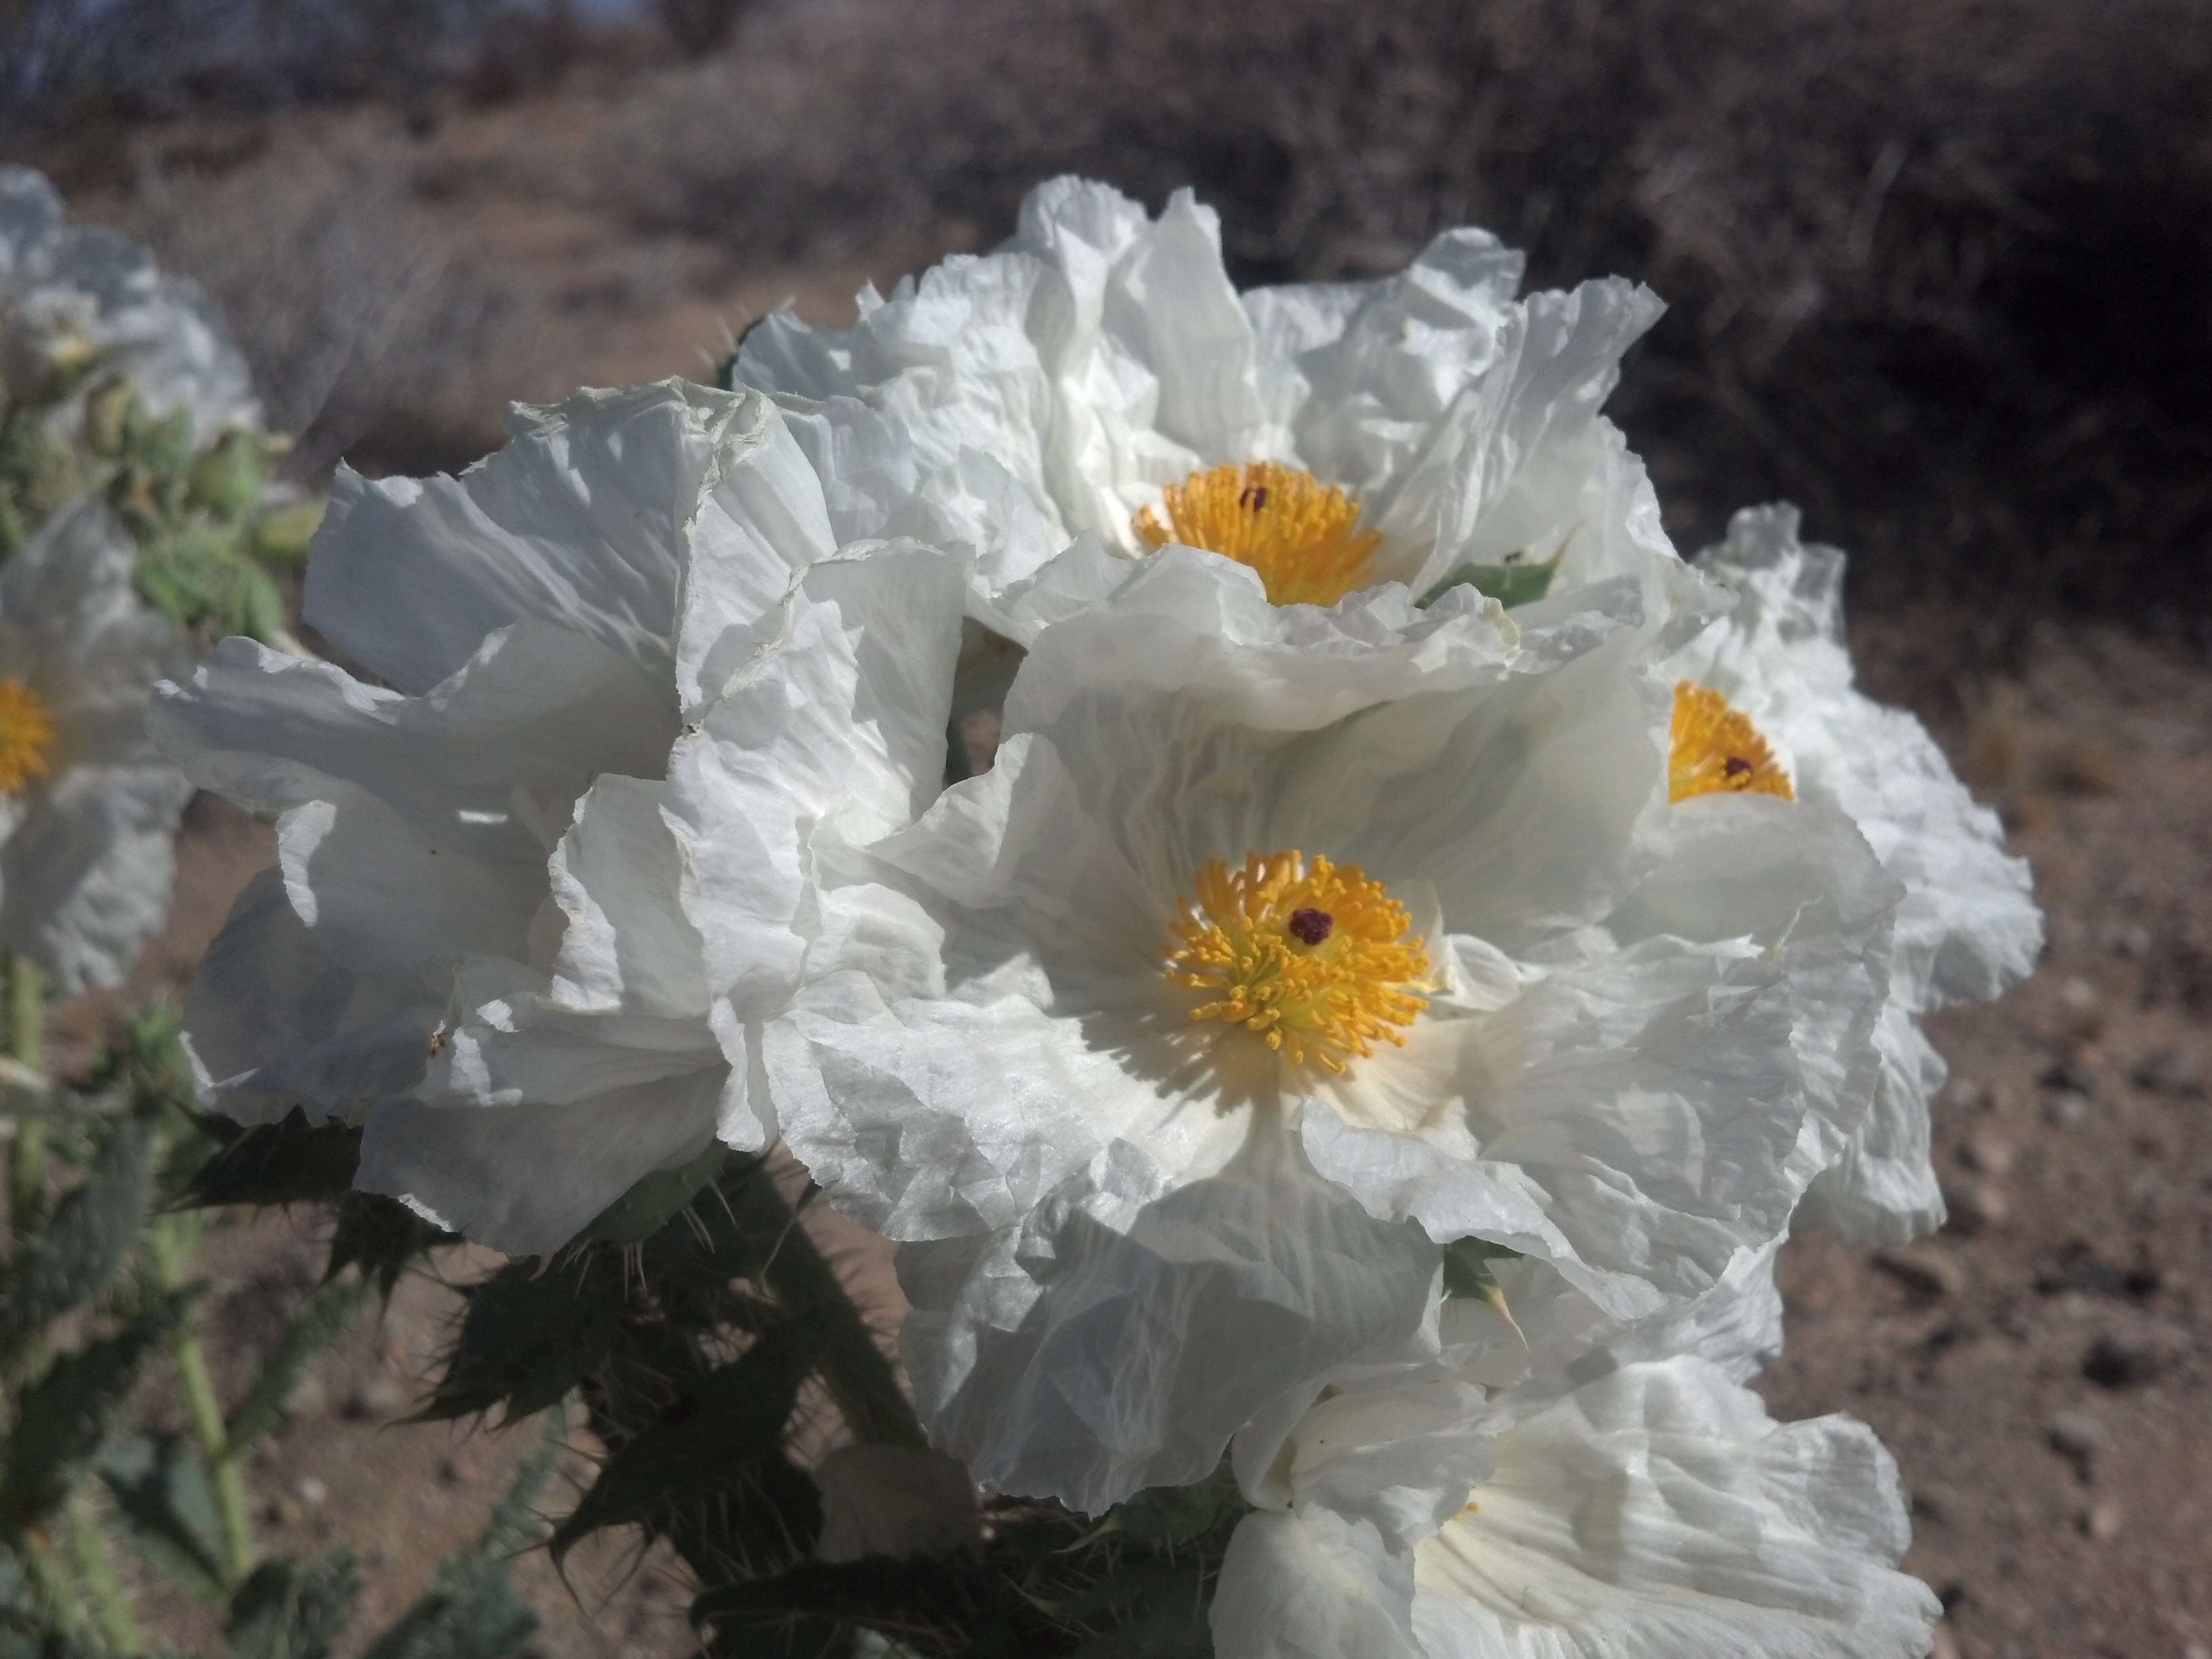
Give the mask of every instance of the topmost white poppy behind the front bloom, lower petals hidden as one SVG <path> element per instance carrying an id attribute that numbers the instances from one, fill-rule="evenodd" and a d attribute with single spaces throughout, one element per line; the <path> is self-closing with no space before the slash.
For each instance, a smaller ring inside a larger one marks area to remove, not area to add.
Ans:
<path id="1" fill-rule="evenodd" d="M 1575 588 L 1679 584 L 1597 414 L 1659 301 L 1619 279 L 1515 299 L 1520 276 L 1449 230 L 1394 276 L 1239 294 L 1188 190 L 1152 219 L 1053 179 L 995 252 L 863 292 L 849 330 L 776 312 L 730 374 L 814 400 L 794 414 L 876 533 L 971 546 L 973 615 L 1022 644 L 1168 542 L 1241 560 L 1276 604 L 1475 568 L 1535 591 L 1553 564 Z"/>

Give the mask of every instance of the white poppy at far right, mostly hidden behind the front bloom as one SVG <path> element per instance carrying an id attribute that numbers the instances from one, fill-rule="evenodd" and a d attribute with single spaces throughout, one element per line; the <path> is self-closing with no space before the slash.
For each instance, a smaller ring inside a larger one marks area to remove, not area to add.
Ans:
<path id="1" fill-rule="evenodd" d="M 1736 741 L 1725 787 L 1778 787 L 1834 805 L 1865 832 L 1905 887 L 1889 1000 L 1878 1024 L 1880 1077 L 1840 1161 L 1809 1194 L 1812 1212 L 1865 1241 L 1898 1241 L 1942 1221 L 1929 1164 L 1929 1099 L 1944 1066 L 1913 1015 L 1982 1002 L 2035 967 L 2042 916 L 2028 867 L 2004 852 L 1997 816 L 1975 805 L 1909 712 L 1851 684 L 1843 641 L 1845 555 L 1798 542 L 1792 507 L 1736 513 L 1699 566 L 1736 606 L 1666 664 L 1683 703 L 1719 701 L 1756 728 Z M 1767 752 L 1765 743 L 1772 743 Z M 1728 745 L 1708 743 L 1721 754 Z"/>

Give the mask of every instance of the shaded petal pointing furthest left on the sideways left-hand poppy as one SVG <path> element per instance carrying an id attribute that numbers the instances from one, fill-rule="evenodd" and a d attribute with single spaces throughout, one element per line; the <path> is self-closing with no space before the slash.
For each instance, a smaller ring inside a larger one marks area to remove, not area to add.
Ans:
<path id="1" fill-rule="evenodd" d="M 398 971 L 526 958 L 549 838 L 593 774 L 659 770 L 675 710 L 624 659 L 531 622 L 427 697 L 228 639 L 150 721 L 195 783 L 285 814 L 292 902 L 325 949 Z"/>

